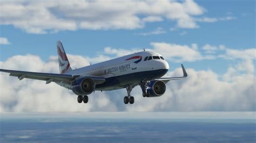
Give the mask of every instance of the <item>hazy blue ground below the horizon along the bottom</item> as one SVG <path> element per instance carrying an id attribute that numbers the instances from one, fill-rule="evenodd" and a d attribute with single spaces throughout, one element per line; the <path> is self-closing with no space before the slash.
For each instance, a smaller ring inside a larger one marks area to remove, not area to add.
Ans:
<path id="1" fill-rule="evenodd" d="M 0 142 L 256 142 L 255 112 L 1 113 Z"/>

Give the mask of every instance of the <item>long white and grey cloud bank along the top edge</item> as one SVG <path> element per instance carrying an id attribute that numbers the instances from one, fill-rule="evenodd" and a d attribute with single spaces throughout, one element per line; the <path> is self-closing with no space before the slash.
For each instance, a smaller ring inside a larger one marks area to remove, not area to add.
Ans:
<path id="1" fill-rule="evenodd" d="M 180 28 L 197 28 L 193 16 L 205 9 L 192 0 L 177 1 L 2 1 L 2 25 L 28 33 L 62 30 L 132 30 L 164 19 Z M 163 19 L 164 18 L 164 19 Z"/>

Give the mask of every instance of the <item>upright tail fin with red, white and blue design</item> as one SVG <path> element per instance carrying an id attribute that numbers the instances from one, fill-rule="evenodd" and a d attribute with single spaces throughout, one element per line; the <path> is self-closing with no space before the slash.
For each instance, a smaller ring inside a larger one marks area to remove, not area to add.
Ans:
<path id="1" fill-rule="evenodd" d="M 66 57 L 62 42 L 57 41 L 57 52 L 58 52 L 58 61 L 59 61 L 59 73 L 64 74 L 68 71 L 71 71 L 69 60 Z"/>

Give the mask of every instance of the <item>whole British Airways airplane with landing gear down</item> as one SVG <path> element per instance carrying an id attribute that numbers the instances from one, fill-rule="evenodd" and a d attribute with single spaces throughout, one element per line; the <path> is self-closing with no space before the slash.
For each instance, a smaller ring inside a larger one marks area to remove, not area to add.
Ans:
<path id="1" fill-rule="evenodd" d="M 55 82 L 60 86 L 72 90 L 77 95 L 78 103 L 87 103 L 87 95 L 95 91 L 107 91 L 125 88 L 127 96 L 125 104 L 133 104 L 134 97 L 131 91 L 137 85 L 142 89 L 143 97 L 159 97 L 164 95 L 166 83 L 171 80 L 180 80 L 187 77 L 186 70 L 181 64 L 183 76 L 165 77 L 169 64 L 163 56 L 152 51 L 142 51 L 120 58 L 96 63 L 78 69 L 72 69 L 64 51 L 62 42 L 57 41 L 59 73 L 36 73 L 30 71 L 0 69 L 10 73 L 19 80 L 30 78 L 46 81 L 46 84 Z"/>

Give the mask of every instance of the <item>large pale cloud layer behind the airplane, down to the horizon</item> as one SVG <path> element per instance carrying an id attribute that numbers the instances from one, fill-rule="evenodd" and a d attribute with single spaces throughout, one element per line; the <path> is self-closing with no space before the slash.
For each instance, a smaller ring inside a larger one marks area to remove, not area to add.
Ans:
<path id="1" fill-rule="evenodd" d="M 198 49 L 195 45 L 183 48 Z M 109 53 L 109 56 L 104 56 L 114 57 L 122 53 L 120 50 L 105 48 L 105 54 Z M 124 53 L 127 51 L 123 50 Z M 194 54 L 199 56 L 201 53 Z M 136 87 L 132 90 L 132 95 L 136 99 L 133 105 L 123 103 L 125 89 L 96 91 L 89 95 L 88 104 L 78 104 L 77 96 L 72 91 L 55 83 L 46 85 L 44 81 L 28 79 L 18 81 L 16 77 L 0 73 L 0 111 L 256 111 L 253 65 L 255 59 L 243 57 L 234 57 L 238 58 L 235 65 L 228 67 L 223 75 L 218 75 L 212 70 L 187 69 L 188 78 L 167 83 L 166 93 L 161 97 L 144 98 L 141 89 Z M 68 58 L 73 68 L 89 65 L 90 58 L 87 57 L 68 55 Z M 37 55 L 16 55 L 0 62 L 0 68 L 58 73 L 58 61 L 57 56 L 50 56 L 49 60 L 44 62 Z M 178 68 L 166 76 L 181 74 L 182 71 Z"/>

